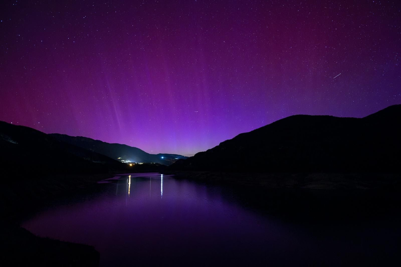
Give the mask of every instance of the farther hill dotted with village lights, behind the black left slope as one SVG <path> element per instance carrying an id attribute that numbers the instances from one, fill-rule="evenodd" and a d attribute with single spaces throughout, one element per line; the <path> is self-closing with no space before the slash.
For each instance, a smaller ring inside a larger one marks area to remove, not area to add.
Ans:
<path id="1" fill-rule="evenodd" d="M 126 162 L 155 162 L 168 166 L 176 162 L 178 159 L 188 158 L 177 154 L 149 154 L 132 146 L 110 144 L 82 136 L 74 137 L 65 134 L 49 134 L 49 136 L 68 144 L 103 154 L 115 160 L 124 160 Z"/>

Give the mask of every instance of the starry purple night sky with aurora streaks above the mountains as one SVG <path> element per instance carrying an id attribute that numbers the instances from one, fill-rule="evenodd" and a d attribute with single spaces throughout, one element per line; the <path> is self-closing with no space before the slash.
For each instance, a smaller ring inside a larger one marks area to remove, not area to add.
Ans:
<path id="1" fill-rule="evenodd" d="M 401 103 L 399 1 L 1 1 L 0 120 L 194 154 Z M 335 78 L 334 78 L 335 77 Z"/>

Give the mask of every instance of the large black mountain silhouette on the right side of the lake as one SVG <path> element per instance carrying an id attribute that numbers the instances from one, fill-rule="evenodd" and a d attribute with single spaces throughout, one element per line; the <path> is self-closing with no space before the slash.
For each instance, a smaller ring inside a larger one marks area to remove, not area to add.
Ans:
<path id="1" fill-rule="evenodd" d="M 294 115 L 172 164 L 172 170 L 400 172 L 401 105 L 364 118 Z"/>

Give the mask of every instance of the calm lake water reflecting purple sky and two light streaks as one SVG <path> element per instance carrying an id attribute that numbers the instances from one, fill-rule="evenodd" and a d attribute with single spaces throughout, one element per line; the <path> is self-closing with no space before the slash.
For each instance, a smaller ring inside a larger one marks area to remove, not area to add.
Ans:
<path id="1" fill-rule="evenodd" d="M 262 214 L 235 194 L 158 173 L 121 175 L 38 212 L 22 227 L 93 245 L 101 266 L 374 265 L 393 253 L 385 226 L 310 231 Z"/>

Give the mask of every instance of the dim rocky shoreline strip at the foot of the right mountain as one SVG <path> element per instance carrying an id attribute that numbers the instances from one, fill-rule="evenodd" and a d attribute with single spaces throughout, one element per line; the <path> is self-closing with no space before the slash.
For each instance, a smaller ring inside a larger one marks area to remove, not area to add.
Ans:
<path id="1" fill-rule="evenodd" d="M 163 170 L 177 178 L 261 188 L 330 190 L 401 189 L 398 173 L 268 173 Z"/>

